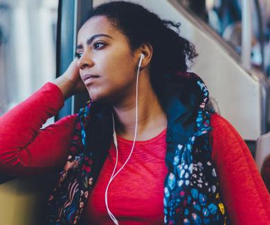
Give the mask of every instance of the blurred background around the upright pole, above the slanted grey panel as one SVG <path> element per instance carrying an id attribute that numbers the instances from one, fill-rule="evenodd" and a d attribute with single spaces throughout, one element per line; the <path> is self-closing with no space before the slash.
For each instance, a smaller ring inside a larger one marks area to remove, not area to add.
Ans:
<path id="1" fill-rule="evenodd" d="M 242 46 L 243 0 L 178 0 L 215 30 L 237 53 Z M 270 1 L 252 0 L 252 66 L 270 75 Z"/>

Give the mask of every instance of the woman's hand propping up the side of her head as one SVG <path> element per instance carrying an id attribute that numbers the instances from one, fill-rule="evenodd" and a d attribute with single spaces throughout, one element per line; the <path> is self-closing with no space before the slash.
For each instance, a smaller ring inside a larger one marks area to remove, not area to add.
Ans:
<path id="1" fill-rule="evenodd" d="M 77 62 L 78 59 L 74 59 L 63 75 L 53 82 L 61 89 L 64 99 L 69 98 L 75 93 L 87 91 L 84 82 L 82 82 L 82 79 L 80 78 Z"/>

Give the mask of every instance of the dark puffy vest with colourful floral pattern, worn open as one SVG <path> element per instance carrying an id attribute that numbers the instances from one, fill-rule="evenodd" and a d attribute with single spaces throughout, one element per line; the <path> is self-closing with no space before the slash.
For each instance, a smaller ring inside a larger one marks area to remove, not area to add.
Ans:
<path id="1" fill-rule="evenodd" d="M 211 160 L 208 89 L 195 73 L 177 72 L 167 83 L 171 86 L 163 96 L 168 115 L 164 224 L 230 224 Z M 111 137 L 111 108 L 87 102 L 78 114 L 64 170 L 48 199 L 49 224 L 79 224 Z"/>

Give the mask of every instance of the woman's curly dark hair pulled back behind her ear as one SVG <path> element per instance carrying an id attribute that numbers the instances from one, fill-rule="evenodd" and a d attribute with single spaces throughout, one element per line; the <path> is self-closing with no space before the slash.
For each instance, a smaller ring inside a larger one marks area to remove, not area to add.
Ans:
<path id="1" fill-rule="evenodd" d="M 153 48 L 150 62 L 150 79 L 157 94 L 166 78 L 176 71 L 187 71 L 188 61 L 197 56 L 195 46 L 179 36 L 180 23 L 163 20 L 143 6 L 127 1 L 111 1 L 93 8 L 85 21 L 95 16 L 105 16 L 112 26 L 127 37 L 132 51 L 143 43 Z"/>

